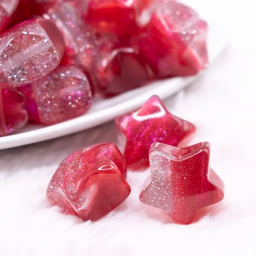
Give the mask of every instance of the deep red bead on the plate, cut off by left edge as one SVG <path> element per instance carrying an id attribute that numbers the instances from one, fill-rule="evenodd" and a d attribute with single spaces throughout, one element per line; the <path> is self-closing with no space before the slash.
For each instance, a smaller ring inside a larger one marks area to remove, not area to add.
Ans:
<path id="1" fill-rule="evenodd" d="M 27 120 L 23 94 L 9 84 L 0 83 L 0 136 L 18 130 Z"/>

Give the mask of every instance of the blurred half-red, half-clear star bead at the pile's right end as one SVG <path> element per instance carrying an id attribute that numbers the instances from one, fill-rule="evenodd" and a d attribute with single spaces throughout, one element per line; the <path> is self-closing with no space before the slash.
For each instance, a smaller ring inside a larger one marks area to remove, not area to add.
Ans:
<path id="1" fill-rule="evenodd" d="M 138 44 L 159 78 L 190 76 L 207 65 L 207 23 L 187 6 L 162 1 L 140 31 Z"/>

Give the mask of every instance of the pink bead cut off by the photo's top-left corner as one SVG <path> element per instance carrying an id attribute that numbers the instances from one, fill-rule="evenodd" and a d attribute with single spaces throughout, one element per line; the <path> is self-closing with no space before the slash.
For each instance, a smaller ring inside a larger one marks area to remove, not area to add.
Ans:
<path id="1" fill-rule="evenodd" d="M 0 0 L 0 32 L 8 25 L 19 0 Z"/>

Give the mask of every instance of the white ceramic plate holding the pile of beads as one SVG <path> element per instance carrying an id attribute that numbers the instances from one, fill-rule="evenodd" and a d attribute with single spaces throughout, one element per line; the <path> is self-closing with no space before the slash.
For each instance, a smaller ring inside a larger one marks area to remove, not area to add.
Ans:
<path id="1" fill-rule="evenodd" d="M 225 35 L 226 32 L 222 25 L 210 24 L 207 42 L 209 64 L 211 64 L 224 49 L 227 42 L 225 40 Z M 96 99 L 89 112 L 83 116 L 57 125 L 42 126 L 27 124 L 16 134 L 0 137 L 0 149 L 49 140 L 100 125 L 114 119 L 122 113 L 139 107 L 154 94 L 157 94 L 162 99 L 171 96 L 189 85 L 193 80 L 200 76 L 200 74 L 201 73 L 187 78 L 177 77 L 154 81 L 144 87 L 130 90 L 111 99 Z"/>

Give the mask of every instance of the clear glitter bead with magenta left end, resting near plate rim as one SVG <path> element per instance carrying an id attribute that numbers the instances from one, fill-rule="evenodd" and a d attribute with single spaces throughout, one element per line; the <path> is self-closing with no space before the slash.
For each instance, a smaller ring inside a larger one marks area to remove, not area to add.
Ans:
<path id="1" fill-rule="evenodd" d="M 57 67 L 47 76 L 19 87 L 26 97 L 29 120 L 43 124 L 81 116 L 90 108 L 92 94 L 84 73 L 77 67 Z"/>

